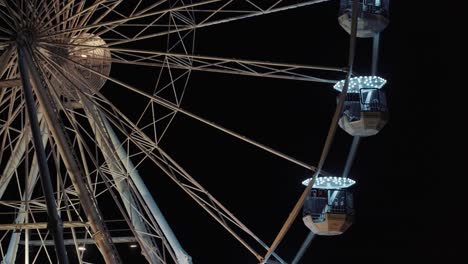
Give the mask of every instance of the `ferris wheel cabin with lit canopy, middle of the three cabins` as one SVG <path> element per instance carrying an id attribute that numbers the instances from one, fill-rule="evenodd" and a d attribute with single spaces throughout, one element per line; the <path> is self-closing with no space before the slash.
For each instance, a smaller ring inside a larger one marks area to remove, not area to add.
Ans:
<path id="1" fill-rule="evenodd" d="M 343 90 L 345 80 L 335 84 Z M 351 136 L 367 137 L 377 134 L 387 123 L 388 109 L 382 87 L 386 80 L 377 76 L 351 78 L 338 125 Z"/>

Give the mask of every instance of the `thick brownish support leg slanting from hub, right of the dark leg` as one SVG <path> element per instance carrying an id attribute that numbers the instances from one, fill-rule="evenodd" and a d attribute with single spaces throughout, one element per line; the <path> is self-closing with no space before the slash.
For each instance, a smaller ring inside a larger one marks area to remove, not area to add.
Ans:
<path id="1" fill-rule="evenodd" d="M 23 42 L 27 43 L 26 41 Z M 60 118 L 57 116 L 58 113 L 53 108 L 54 102 L 49 99 L 47 91 L 42 85 L 42 81 L 35 68 L 36 66 L 34 65 L 30 53 L 30 47 L 20 45 L 19 50 L 24 58 L 24 64 L 30 65 L 32 86 L 39 101 L 39 105 L 44 112 L 48 129 L 57 143 L 60 156 L 63 159 L 67 172 L 69 173 L 70 180 L 72 181 L 77 196 L 80 199 L 83 211 L 85 212 L 90 224 L 96 246 L 101 252 L 106 263 L 122 263 L 112 242 L 109 231 L 104 224 L 104 219 L 97 207 L 97 203 L 92 196 L 92 192 L 84 181 L 85 176 L 83 175 L 79 163 L 73 154 L 71 143 L 62 127 Z"/>

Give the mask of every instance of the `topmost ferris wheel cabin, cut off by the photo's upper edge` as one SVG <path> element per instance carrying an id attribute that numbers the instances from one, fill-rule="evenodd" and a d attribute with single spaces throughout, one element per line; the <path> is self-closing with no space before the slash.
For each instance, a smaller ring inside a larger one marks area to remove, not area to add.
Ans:
<path id="1" fill-rule="evenodd" d="M 388 19 L 389 0 L 359 0 L 358 4 L 358 38 L 371 38 L 382 32 L 390 22 Z M 338 22 L 346 32 L 351 33 L 351 16 L 353 0 L 341 0 Z"/>

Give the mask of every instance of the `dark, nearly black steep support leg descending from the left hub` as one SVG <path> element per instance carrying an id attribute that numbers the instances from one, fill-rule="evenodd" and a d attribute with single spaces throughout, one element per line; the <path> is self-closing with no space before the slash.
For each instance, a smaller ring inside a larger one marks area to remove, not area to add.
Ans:
<path id="1" fill-rule="evenodd" d="M 30 83 L 29 70 L 25 59 L 26 45 L 24 42 L 19 43 L 18 55 L 19 55 L 19 68 L 21 72 L 21 80 L 23 82 L 23 92 L 26 100 L 26 109 L 28 111 L 29 124 L 31 125 L 31 132 L 33 136 L 34 149 L 39 165 L 39 171 L 41 175 L 41 185 L 44 192 L 44 197 L 47 205 L 48 215 L 48 229 L 52 233 L 54 238 L 55 251 L 57 252 L 57 258 L 59 263 L 68 264 L 67 251 L 63 241 L 63 225 L 60 216 L 57 213 L 57 206 L 54 198 L 54 191 L 52 187 L 52 180 L 50 176 L 49 167 L 47 165 L 47 157 L 44 149 L 44 145 L 41 140 L 41 130 L 39 128 L 39 121 L 37 119 L 36 103 L 32 93 L 32 87 Z M 31 66 L 31 65 L 29 65 Z"/>

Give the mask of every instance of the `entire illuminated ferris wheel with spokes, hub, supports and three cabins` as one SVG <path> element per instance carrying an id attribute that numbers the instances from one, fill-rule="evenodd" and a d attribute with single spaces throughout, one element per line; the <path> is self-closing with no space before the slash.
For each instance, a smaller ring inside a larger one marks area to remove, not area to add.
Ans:
<path id="1" fill-rule="evenodd" d="M 352 50 L 356 37 L 373 37 L 378 53 L 388 1 L 341 1 L 339 23 L 351 35 L 348 67 L 198 55 L 195 47 L 200 28 L 321 2 L 326 0 L 0 0 L 2 263 L 131 262 L 117 244 L 138 247 L 149 263 L 192 263 L 190 249 L 145 184 L 149 176 L 139 172 L 143 164 L 166 175 L 260 263 L 289 263 L 276 247 L 300 209 L 311 234 L 343 233 L 354 215 L 347 189 L 354 184 L 347 177 L 353 158 L 340 177 L 322 166 L 337 126 L 355 138 L 356 148 L 387 121 L 386 81 L 375 76 L 375 67 L 368 76 L 354 76 Z M 185 110 L 190 75 L 198 71 L 321 82 L 339 91 L 318 165 Z M 125 103 L 131 111 L 121 108 Z M 271 245 L 161 146 L 176 115 L 313 173 Z M 85 253 L 93 247 L 98 257 L 89 260 Z"/>

